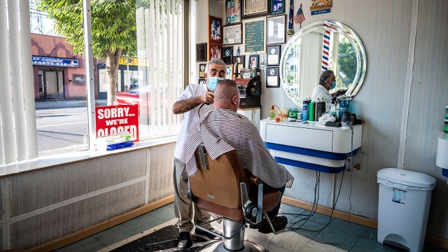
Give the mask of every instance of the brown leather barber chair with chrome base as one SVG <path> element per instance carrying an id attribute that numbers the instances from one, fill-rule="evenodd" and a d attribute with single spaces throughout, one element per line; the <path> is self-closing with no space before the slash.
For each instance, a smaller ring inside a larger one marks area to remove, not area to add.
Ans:
<path id="1" fill-rule="evenodd" d="M 262 246 L 244 241 L 247 224 L 262 221 L 262 214 L 272 228 L 266 212 L 279 204 L 279 190 L 263 192 L 263 184 L 241 167 L 236 151 L 229 151 L 212 160 L 204 146 L 195 151 L 198 172 L 190 177 L 190 197 L 197 207 L 220 218 L 196 225 L 196 228 L 223 238 L 202 248 L 202 251 L 267 251 Z M 253 190 L 251 190 L 253 189 Z M 253 195 L 249 195 L 253 192 Z M 223 235 L 202 228 L 202 225 L 223 220 Z"/>

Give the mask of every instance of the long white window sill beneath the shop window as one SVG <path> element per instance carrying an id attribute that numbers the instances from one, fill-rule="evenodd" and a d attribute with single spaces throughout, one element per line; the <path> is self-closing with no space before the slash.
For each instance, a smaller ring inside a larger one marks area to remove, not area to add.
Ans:
<path id="1" fill-rule="evenodd" d="M 49 155 L 41 158 L 34 158 L 32 160 L 25 160 L 10 165 L 1 165 L 0 178 L 11 176 L 14 174 L 31 172 L 38 169 L 47 169 L 51 167 L 57 167 L 60 165 L 67 165 L 69 163 L 90 160 L 93 158 L 102 158 L 109 155 L 123 154 L 154 146 L 171 144 L 176 142 L 176 140 L 177 136 L 162 137 L 160 139 L 139 141 L 135 143 L 134 146 L 128 148 L 122 148 L 115 151 L 78 151 L 73 153 L 62 153 L 57 155 Z"/>

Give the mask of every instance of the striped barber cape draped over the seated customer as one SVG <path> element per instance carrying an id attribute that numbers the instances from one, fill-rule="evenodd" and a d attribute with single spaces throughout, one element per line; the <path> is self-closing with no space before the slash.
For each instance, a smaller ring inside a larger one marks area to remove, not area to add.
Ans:
<path id="1" fill-rule="evenodd" d="M 293 185 L 294 177 L 272 158 L 257 128 L 246 116 L 217 109 L 209 111 L 193 125 L 181 156 L 188 177 L 197 172 L 194 154 L 202 143 L 213 160 L 235 149 L 242 167 L 272 188 Z"/>

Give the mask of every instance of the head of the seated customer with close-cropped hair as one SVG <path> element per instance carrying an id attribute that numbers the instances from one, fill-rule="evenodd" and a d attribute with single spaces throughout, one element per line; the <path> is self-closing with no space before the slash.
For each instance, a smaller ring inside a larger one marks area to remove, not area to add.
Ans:
<path id="1" fill-rule="evenodd" d="M 237 111 L 239 106 L 239 90 L 233 80 L 220 80 L 216 85 L 214 97 L 215 109 Z"/>

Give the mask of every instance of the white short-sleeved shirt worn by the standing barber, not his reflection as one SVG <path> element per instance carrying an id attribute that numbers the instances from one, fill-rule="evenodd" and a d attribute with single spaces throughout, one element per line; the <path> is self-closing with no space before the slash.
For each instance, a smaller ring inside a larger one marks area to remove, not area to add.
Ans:
<path id="1" fill-rule="evenodd" d="M 190 84 L 183 91 L 181 97 L 177 99 L 177 102 L 200 96 L 204 94 L 204 92 L 207 92 L 206 85 Z M 176 149 L 174 149 L 174 158 L 181 158 L 183 150 L 185 149 L 185 146 L 187 144 L 188 134 L 190 133 L 191 127 L 193 127 L 193 124 L 195 124 L 197 120 L 199 120 L 200 116 L 213 109 L 213 104 L 204 104 L 201 109 L 200 107 L 201 105 L 196 106 L 190 111 L 183 113 L 183 123 L 181 132 L 179 132 L 179 136 L 177 137 Z M 200 116 L 197 114 L 197 111 L 200 111 Z"/>

